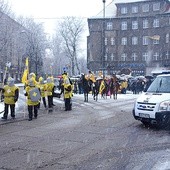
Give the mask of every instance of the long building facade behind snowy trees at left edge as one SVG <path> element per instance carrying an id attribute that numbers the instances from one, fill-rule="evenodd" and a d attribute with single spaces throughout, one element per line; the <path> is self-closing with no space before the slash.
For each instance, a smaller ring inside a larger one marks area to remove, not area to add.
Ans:
<path id="1" fill-rule="evenodd" d="M 21 78 L 27 48 L 23 30 L 26 29 L 22 25 L 0 12 L 0 82 L 4 74 L 6 78 L 9 74 L 15 79 Z"/>

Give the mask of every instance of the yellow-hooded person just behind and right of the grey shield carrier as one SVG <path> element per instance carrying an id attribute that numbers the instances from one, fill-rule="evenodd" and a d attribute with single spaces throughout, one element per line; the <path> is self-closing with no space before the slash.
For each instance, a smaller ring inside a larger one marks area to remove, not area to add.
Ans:
<path id="1" fill-rule="evenodd" d="M 44 82 L 44 78 L 43 77 L 39 78 L 38 87 L 39 87 L 40 92 L 41 92 L 41 98 L 42 98 L 42 101 L 43 101 L 43 105 L 44 105 L 45 108 L 47 108 L 47 104 L 46 104 L 47 84 Z M 39 104 L 39 108 L 40 108 L 40 104 Z"/>

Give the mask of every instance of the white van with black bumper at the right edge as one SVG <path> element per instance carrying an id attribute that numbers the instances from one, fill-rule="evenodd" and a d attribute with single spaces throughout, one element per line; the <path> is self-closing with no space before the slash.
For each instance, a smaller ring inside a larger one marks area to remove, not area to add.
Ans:
<path id="1" fill-rule="evenodd" d="M 170 125 L 170 73 L 158 75 L 135 101 L 133 116 L 145 125 Z"/>

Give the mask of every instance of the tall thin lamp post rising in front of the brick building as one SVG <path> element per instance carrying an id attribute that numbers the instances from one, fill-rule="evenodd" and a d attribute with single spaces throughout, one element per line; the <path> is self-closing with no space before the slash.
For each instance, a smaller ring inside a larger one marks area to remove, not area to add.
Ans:
<path id="1" fill-rule="evenodd" d="M 103 25 L 102 25 L 102 70 L 103 78 L 105 77 L 105 3 L 106 0 L 103 0 Z"/>

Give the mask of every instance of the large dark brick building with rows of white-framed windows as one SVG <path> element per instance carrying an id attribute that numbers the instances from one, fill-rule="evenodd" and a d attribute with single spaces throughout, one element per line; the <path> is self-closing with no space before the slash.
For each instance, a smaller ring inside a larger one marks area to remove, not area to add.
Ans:
<path id="1" fill-rule="evenodd" d="M 115 0 L 101 15 L 88 18 L 88 28 L 89 70 L 146 75 L 157 68 L 170 68 L 168 0 Z"/>

